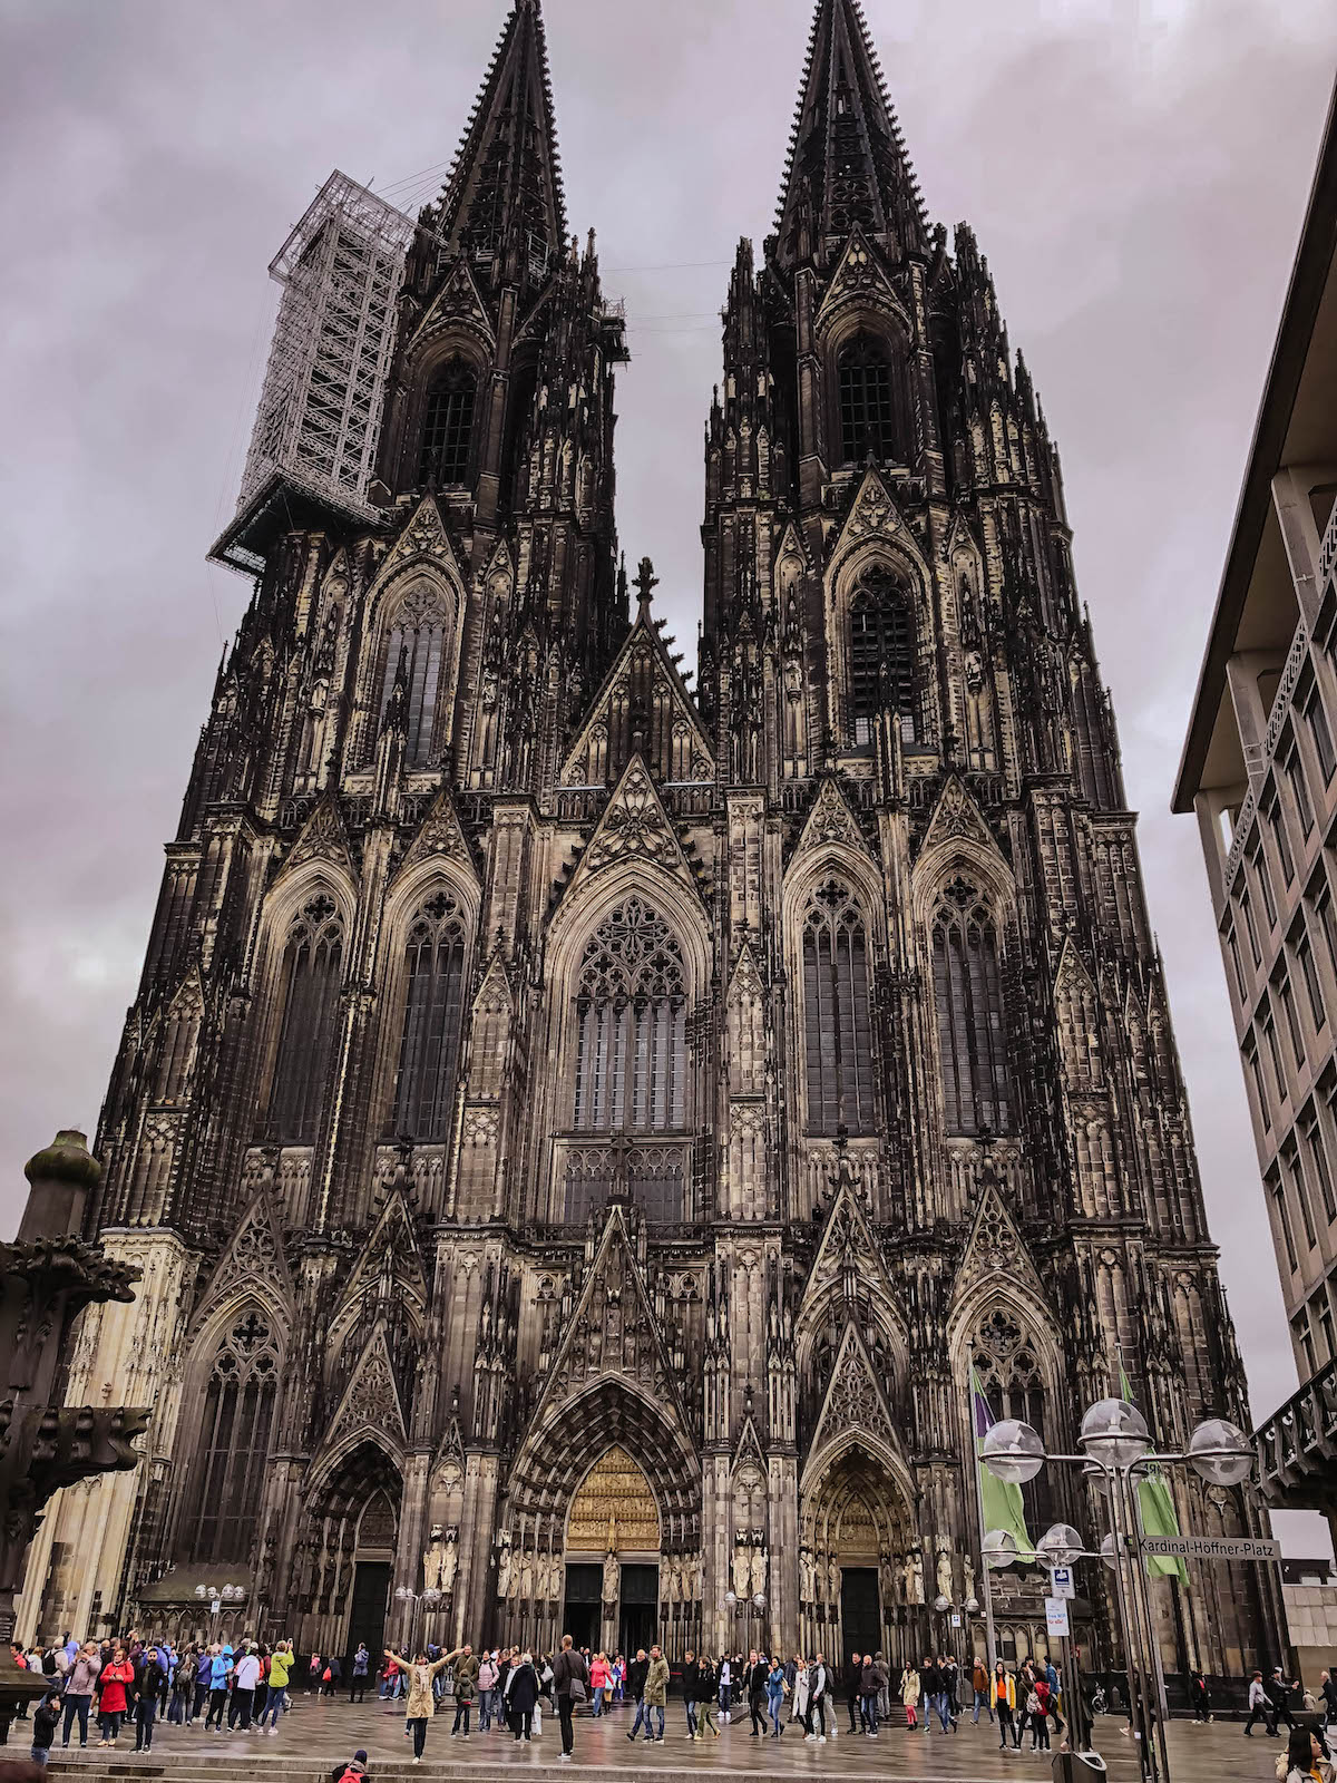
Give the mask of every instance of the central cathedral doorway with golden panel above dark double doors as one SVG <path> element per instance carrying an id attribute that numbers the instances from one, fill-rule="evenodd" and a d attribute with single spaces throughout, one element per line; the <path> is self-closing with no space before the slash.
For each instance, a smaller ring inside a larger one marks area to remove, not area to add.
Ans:
<path id="1" fill-rule="evenodd" d="M 660 1541 L 651 1482 L 615 1442 L 567 1514 L 563 1630 L 576 1646 L 635 1653 L 658 1640 Z"/>

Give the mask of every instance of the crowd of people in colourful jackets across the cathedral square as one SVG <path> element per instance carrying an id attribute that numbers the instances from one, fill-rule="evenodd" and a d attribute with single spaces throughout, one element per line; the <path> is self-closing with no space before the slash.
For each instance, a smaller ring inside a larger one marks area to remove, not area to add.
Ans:
<path id="1" fill-rule="evenodd" d="M 291 1692 L 298 1687 L 299 1662 L 291 1640 L 266 1646 L 257 1640 L 191 1644 L 176 1651 L 169 1640 L 78 1642 L 66 1637 L 59 1646 L 21 1653 L 20 1665 L 37 1669 L 46 1678 L 34 1697 L 32 1758 L 45 1765 L 53 1744 L 68 1747 L 96 1744 L 114 1747 L 123 1730 L 134 1726 L 135 1751 L 152 1751 L 159 1721 L 184 1728 L 217 1730 L 226 1735 L 278 1735 Z M 793 1733 L 825 1744 L 849 1722 L 849 1735 L 879 1738 L 893 1703 L 904 1708 L 904 1726 L 913 1733 L 954 1735 L 966 1713 L 979 1724 L 980 1715 L 997 1728 L 1000 1749 L 1021 1749 L 1030 1737 L 1030 1751 L 1050 1751 L 1050 1724 L 1062 1735 L 1062 1685 L 1052 1660 L 1025 1658 L 1009 1669 L 998 1660 L 993 1671 L 975 1658 L 963 1671 L 950 1655 L 927 1656 L 907 1664 L 898 1674 L 882 1653 L 852 1653 L 843 1665 L 829 1665 L 824 1653 L 811 1658 L 777 1653 L 693 1653 L 677 1671 L 677 1689 L 690 1740 L 717 1740 L 720 1728 L 734 1717 L 751 1722 L 752 1738 L 779 1740 Z M 574 1749 L 574 1721 L 588 1712 L 599 1719 L 617 1703 L 635 1706 L 627 1740 L 660 1742 L 668 1730 L 670 1665 L 661 1647 L 644 1647 L 627 1658 L 622 1653 L 576 1647 L 565 1635 L 554 1655 L 533 1653 L 519 1646 L 483 1647 L 465 1644 L 449 1651 L 422 1646 L 385 1647 L 373 1655 L 365 1644 L 344 1660 L 312 1653 L 301 1664 L 301 1683 L 308 1694 L 333 1696 L 348 1687 L 349 1701 L 365 1701 L 374 1685 L 380 1699 L 403 1703 L 405 1737 L 412 1740 L 414 1763 L 422 1762 L 431 1721 L 449 1697 L 453 1706 L 451 1738 L 467 1740 L 474 1733 L 510 1733 L 512 1740 L 533 1740 L 542 1733 L 544 1712 L 560 1724 L 563 1763 Z M 1264 1681 L 1255 1672 L 1250 1683 L 1244 1733 L 1262 1721 L 1276 1738 L 1280 1724 L 1298 1737 L 1291 1713 L 1300 1687 L 1276 1667 Z M 1191 1680 L 1194 1719 L 1210 1719 L 1207 1680 Z M 1323 1672 L 1321 1697 L 1305 1696 L 1321 1715 L 1317 1742 L 1325 1747 L 1323 1728 L 1337 1724 L 1337 1681 Z M 1096 1705 L 1100 1706 L 1100 1705 Z M 841 1713 L 843 1712 L 843 1713 Z M 1292 1738 L 1292 1744 L 1294 1738 Z M 1298 1747 L 1296 1747 L 1298 1749 Z M 1326 1747 L 1321 1753 L 1326 1763 Z M 360 1774 L 357 1754 L 351 1774 Z M 1278 1760 L 1278 1776 L 1284 1776 Z M 1333 1779 L 1337 1783 L 1337 1779 Z"/>

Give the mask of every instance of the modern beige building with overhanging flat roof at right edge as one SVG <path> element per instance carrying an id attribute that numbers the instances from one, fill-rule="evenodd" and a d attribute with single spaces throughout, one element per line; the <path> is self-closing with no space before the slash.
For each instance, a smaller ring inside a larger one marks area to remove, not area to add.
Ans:
<path id="1" fill-rule="evenodd" d="M 1184 747 L 1300 1393 L 1269 1501 L 1337 1517 L 1337 128 L 1319 157 Z"/>

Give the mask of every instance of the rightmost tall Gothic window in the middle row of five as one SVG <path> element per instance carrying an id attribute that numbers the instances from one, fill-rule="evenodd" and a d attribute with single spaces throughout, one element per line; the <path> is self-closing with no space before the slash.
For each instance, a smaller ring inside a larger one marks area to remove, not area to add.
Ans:
<path id="1" fill-rule="evenodd" d="M 945 888 L 932 920 L 932 988 L 947 1132 L 1009 1132 L 998 934 L 968 879 Z"/>

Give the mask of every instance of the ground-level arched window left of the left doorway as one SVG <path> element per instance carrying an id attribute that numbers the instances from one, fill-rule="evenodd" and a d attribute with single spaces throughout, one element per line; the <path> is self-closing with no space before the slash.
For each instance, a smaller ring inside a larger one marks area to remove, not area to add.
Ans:
<path id="1" fill-rule="evenodd" d="M 278 1344 L 251 1309 L 217 1348 L 200 1425 L 191 1557 L 244 1562 L 264 1491 L 278 1394 Z"/>

